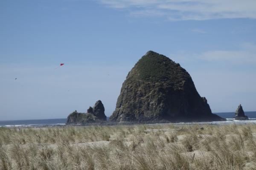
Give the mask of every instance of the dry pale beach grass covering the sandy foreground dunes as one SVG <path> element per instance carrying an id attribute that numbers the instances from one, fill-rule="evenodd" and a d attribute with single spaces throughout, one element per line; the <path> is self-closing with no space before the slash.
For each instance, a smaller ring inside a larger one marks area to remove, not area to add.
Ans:
<path id="1" fill-rule="evenodd" d="M 256 125 L 0 128 L 0 170 L 256 170 Z"/>

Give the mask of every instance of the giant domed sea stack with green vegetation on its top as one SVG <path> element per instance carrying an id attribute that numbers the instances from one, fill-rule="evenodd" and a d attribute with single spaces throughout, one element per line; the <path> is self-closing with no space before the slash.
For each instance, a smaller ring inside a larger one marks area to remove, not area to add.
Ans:
<path id="1" fill-rule="evenodd" d="M 225 120 L 201 98 L 189 73 L 168 57 L 148 51 L 122 85 L 110 121 L 177 122 Z"/>

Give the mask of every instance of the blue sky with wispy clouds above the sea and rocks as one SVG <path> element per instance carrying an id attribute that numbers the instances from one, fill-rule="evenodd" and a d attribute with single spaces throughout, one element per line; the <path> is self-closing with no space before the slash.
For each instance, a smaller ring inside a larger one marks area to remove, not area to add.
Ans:
<path id="1" fill-rule="evenodd" d="M 180 63 L 213 113 L 256 111 L 255 30 L 255 0 L 0 0 L 0 120 L 99 99 L 110 116 L 149 50 Z"/>

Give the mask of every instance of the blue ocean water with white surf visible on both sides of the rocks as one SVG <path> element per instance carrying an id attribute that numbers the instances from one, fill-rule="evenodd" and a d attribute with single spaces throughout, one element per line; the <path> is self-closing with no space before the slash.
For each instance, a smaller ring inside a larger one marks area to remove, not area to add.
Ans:
<path id="1" fill-rule="evenodd" d="M 235 120 L 234 112 L 215 113 L 221 116 L 227 121 L 222 122 L 200 122 L 200 123 L 211 123 L 211 124 L 229 124 L 229 123 L 256 123 L 256 111 L 244 112 L 249 117 L 249 120 Z M 50 126 L 64 126 L 67 119 L 35 119 L 35 120 L 8 120 L 0 121 L 0 127 L 50 127 Z M 183 124 L 181 122 L 181 124 Z"/>

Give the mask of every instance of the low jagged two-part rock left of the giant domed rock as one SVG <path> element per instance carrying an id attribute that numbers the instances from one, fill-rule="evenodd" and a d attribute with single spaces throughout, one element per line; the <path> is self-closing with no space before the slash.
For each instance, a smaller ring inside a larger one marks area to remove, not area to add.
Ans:
<path id="1" fill-rule="evenodd" d="M 78 113 L 74 111 L 67 116 L 67 125 L 69 124 L 90 124 L 99 123 L 107 120 L 105 116 L 105 108 L 100 100 L 98 100 L 95 105 L 87 109 L 87 113 Z"/>

